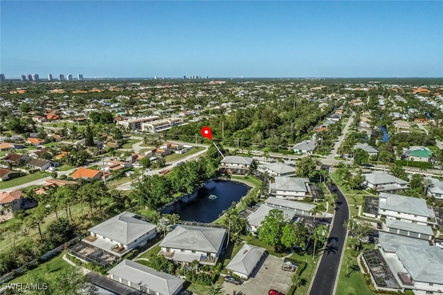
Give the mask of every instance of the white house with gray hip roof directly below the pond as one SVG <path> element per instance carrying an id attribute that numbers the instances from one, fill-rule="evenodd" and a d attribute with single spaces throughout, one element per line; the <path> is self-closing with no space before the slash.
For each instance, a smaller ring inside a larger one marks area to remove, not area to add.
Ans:
<path id="1" fill-rule="evenodd" d="M 226 229 L 176 225 L 160 243 L 160 254 L 175 262 L 215 265 L 226 239 Z"/>

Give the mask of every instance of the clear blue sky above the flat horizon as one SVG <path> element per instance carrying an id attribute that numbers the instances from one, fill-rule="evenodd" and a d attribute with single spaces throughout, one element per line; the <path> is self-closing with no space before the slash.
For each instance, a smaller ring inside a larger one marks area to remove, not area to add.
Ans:
<path id="1" fill-rule="evenodd" d="M 443 1 L 0 1 L 0 72 L 442 77 Z"/>

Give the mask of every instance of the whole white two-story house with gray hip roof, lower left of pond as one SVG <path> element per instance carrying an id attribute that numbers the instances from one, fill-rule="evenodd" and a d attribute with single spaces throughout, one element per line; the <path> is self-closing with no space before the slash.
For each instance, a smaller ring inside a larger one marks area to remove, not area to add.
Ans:
<path id="1" fill-rule="evenodd" d="M 82 242 L 118 257 L 136 247 L 146 245 L 147 241 L 157 235 L 156 225 L 127 211 L 91 227 L 88 231 L 89 236 L 82 239 Z"/>

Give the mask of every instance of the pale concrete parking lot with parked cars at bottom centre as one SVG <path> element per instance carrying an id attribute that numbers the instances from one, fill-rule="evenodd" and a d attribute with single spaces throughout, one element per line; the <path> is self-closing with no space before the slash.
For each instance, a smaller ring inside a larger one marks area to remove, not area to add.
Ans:
<path id="1" fill-rule="evenodd" d="M 267 295 L 269 289 L 276 289 L 287 294 L 291 287 L 291 275 L 293 272 L 282 271 L 283 258 L 268 255 L 258 271 L 252 278 L 244 281 L 242 285 L 223 283 L 226 294 L 242 295 Z M 241 292 L 241 293 L 240 293 Z"/>

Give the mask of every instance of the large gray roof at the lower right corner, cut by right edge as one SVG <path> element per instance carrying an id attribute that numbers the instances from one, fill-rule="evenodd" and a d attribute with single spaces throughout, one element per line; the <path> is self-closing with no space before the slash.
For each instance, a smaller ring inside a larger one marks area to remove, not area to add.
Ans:
<path id="1" fill-rule="evenodd" d="M 443 251 L 428 241 L 380 231 L 385 251 L 395 252 L 413 280 L 443 284 Z"/>

